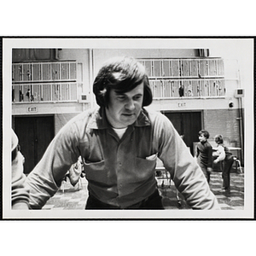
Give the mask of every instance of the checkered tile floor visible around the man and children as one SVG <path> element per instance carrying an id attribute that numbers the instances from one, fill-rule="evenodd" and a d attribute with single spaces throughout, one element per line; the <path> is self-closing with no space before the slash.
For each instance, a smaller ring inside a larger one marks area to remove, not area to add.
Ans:
<path id="1" fill-rule="evenodd" d="M 163 204 L 166 209 L 188 209 L 183 197 L 179 195 L 180 204 L 177 201 L 177 190 L 173 183 L 166 179 L 158 178 L 160 194 L 163 197 Z M 230 174 L 230 191 L 221 190 L 221 172 L 212 172 L 210 189 L 216 195 L 219 206 L 223 210 L 242 210 L 244 207 L 244 173 L 232 172 Z M 84 209 L 88 197 L 87 182 L 81 178 L 81 183 L 73 187 L 67 180 L 61 188 L 49 199 L 44 210 L 67 210 Z"/>

